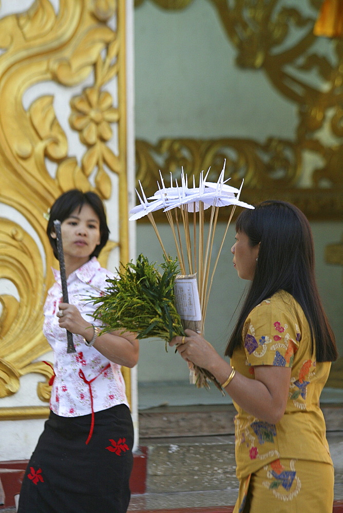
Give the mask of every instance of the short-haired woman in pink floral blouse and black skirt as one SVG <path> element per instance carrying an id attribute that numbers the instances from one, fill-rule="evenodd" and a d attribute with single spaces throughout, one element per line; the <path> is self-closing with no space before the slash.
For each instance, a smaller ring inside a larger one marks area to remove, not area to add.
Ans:
<path id="1" fill-rule="evenodd" d="M 121 366 L 138 361 L 135 333 L 99 335 L 95 309 L 113 274 L 97 257 L 108 240 L 103 203 L 93 192 L 70 190 L 51 207 L 47 234 L 56 252 L 61 221 L 69 303 L 60 272 L 44 305 L 44 334 L 54 352 L 50 416 L 23 480 L 19 513 L 125 513 L 130 499 L 134 432 Z M 66 329 L 75 353 L 67 353 Z"/>

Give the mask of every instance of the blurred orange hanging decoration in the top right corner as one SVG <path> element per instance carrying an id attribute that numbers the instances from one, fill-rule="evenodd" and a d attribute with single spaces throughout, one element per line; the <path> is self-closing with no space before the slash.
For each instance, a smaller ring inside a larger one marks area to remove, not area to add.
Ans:
<path id="1" fill-rule="evenodd" d="M 342 0 L 324 0 L 313 33 L 326 37 L 343 37 Z"/>

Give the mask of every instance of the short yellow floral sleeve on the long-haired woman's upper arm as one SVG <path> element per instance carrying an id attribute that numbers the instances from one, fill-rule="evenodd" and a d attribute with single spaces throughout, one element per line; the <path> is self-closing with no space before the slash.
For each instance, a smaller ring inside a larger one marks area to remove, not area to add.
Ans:
<path id="1" fill-rule="evenodd" d="M 243 343 L 248 365 L 292 367 L 299 347 L 296 313 L 282 300 L 265 300 L 246 319 Z"/>

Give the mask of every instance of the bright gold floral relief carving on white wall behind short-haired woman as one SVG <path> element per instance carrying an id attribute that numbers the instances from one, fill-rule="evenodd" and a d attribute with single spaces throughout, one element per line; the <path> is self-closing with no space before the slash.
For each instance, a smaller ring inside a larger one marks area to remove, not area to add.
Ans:
<path id="1" fill-rule="evenodd" d="M 109 24 L 113 17 L 115 30 Z M 125 2 L 60 0 L 55 13 L 48 0 L 35 0 L 26 12 L 0 19 L 0 48 L 0 202 L 25 218 L 42 246 L 40 251 L 18 223 L 0 219 L 0 278 L 16 290 L 16 295 L 0 295 L 0 397 L 15 393 L 20 377 L 35 372 L 45 378 L 37 394 L 48 401 L 52 371 L 38 360 L 49 350 L 42 334 L 42 306 L 52 285 L 49 268 L 58 263 L 45 234 L 43 213 L 63 191 L 74 187 L 109 199 L 115 173 L 119 240 L 107 244 L 100 261 L 105 266 L 117 246 L 120 260 L 128 260 Z M 79 87 L 67 121 L 85 147 L 81 162 L 68 145 L 52 94 L 38 96 L 24 108 L 26 91 L 49 81 L 66 90 Z M 116 81 L 116 99 L 110 81 Z M 117 141 L 117 150 L 108 144 L 110 139 Z M 47 161 L 55 166 L 54 175 L 48 172 Z M 129 385 L 127 369 L 124 378 Z M 47 413 L 48 408 L 42 407 L 0 408 L 0 418 Z"/>

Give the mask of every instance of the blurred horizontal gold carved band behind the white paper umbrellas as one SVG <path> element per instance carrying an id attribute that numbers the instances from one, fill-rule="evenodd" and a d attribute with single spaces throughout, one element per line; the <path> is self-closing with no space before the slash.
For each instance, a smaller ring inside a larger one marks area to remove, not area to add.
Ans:
<path id="1" fill-rule="evenodd" d="M 165 183 L 170 172 L 179 178 L 181 166 L 188 176 L 198 179 L 200 171 L 211 166 L 208 180 L 217 181 L 226 159 L 226 176 L 239 187 L 244 178 L 241 199 L 259 203 L 266 199 L 289 201 L 297 205 L 310 220 L 341 220 L 343 194 L 339 184 L 332 188 L 298 188 L 301 173 L 301 152 L 288 141 L 268 140 L 261 145 L 249 140 L 161 139 L 155 145 L 136 141 L 137 181 L 144 184 L 146 195 L 156 192 L 159 169 Z M 334 177 L 338 179 L 337 174 Z M 236 212 L 236 214 L 239 212 Z M 227 220 L 229 207 L 219 209 L 219 220 Z M 165 222 L 162 211 L 154 213 L 156 221 Z M 147 222 L 146 217 L 139 223 Z"/>

